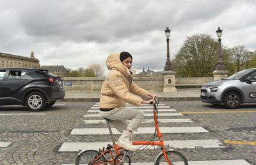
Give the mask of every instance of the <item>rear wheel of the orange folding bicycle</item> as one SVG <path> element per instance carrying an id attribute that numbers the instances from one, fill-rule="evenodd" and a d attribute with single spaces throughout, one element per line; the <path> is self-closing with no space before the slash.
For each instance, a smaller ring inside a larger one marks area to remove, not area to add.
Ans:
<path id="1" fill-rule="evenodd" d="M 79 164 L 90 164 L 93 165 L 93 159 L 98 157 L 100 155 L 100 152 L 96 150 L 85 150 L 81 154 L 79 154 L 76 158 L 76 165 Z M 107 162 L 107 159 L 102 155 L 97 162 Z M 103 163 L 102 163 L 103 164 Z M 105 164 L 107 165 L 107 164 Z"/>

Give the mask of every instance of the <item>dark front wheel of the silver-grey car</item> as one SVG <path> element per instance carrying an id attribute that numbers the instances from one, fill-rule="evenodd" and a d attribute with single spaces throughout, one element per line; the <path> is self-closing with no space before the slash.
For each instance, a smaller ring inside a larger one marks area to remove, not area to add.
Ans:
<path id="1" fill-rule="evenodd" d="M 227 92 L 224 96 L 223 105 L 225 108 L 236 109 L 241 104 L 241 96 L 237 92 Z"/>

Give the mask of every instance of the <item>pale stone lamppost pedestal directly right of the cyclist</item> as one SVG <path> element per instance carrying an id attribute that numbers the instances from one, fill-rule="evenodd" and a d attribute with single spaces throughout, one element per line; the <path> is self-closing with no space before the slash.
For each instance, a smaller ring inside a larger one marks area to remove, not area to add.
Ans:
<path id="1" fill-rule="evenodd" d="M 163 92 L 177 92 L 175 88 L 175 71 L 163 71 L 164 89 Z"/>

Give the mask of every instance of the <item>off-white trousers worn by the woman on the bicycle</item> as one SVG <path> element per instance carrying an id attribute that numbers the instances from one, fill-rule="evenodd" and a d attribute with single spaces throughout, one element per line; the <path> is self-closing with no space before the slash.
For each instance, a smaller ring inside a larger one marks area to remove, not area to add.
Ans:
<path id="1" fill-rule="evenodd" d="M 137 131 L 144 118 L 143 111 L 126 107 L 118 107 L 111 111 L 100 111 L 100 115 L 111 120 L 111 124 L 120 133 L 123 133 L 124 129 Z M 127 120 L 131 120 L 131 122 L 128 123 Z"/>

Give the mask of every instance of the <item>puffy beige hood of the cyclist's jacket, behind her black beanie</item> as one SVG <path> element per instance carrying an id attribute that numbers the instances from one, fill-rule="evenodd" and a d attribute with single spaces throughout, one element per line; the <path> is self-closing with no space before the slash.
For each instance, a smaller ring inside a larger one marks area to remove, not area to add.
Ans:
<path id="1" fill-rule="evenodd" d="M 109 70 L 113 69 L 116 71 L 120 71 L 125 76 L 131 76 L 129 69 L 126 66 L 124 66 L 120 61 L 120 54 L 109 55 L 106 61 L 106 66 L 108 67 Z M 131 70 L 131 72 L 132 74 L 136 73 L 136 71 L 134 70 Z"/>

